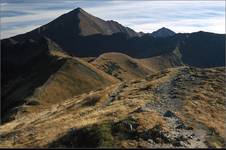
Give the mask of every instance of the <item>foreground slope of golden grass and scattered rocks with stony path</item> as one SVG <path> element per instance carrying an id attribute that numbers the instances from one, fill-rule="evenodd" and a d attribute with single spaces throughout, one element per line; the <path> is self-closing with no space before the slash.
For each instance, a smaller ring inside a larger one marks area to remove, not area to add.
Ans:
<path id="1" fill-rule="evenodd" d="M 225 147 L 224 83 L 225 68 L 167 69 L 2 125 L 0 146 Z"/>

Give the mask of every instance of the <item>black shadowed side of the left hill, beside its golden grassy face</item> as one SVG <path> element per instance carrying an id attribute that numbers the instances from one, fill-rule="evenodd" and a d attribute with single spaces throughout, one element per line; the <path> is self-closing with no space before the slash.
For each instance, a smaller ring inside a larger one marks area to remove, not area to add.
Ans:
<path id="1" fill-rule="evenodd" d="M 13 43 L 13 45 L 12 45 Z M 24 103 L 25 97 L 54 74 L 64 60 L 50 55 L 48 40 L 9 41 L 2 45 L 1 114 Z M 4 119 L 3 119 L 4 120 Z"/>

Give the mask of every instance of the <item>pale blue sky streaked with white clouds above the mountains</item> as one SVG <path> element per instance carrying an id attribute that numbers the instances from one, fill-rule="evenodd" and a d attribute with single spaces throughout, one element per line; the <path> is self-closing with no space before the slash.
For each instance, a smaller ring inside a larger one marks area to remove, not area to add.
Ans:
<path id="1" fill-rule="evenodd" d="M 1 0 L 1 39 L 28 32 L 81 7 L 135 31 L 225 33 L 225 1 Z"/>

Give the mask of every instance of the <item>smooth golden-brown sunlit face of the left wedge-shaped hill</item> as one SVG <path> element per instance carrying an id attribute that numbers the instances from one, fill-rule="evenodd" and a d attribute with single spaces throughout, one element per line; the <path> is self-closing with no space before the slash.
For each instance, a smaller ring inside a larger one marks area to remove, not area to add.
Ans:
<path id="1" fill-rule="evenodd" d="M 52 104 L 116 82 L 113 77 L 82 60 L 66 58 L 61 68 L 34 93 L 33 97 Z"/>

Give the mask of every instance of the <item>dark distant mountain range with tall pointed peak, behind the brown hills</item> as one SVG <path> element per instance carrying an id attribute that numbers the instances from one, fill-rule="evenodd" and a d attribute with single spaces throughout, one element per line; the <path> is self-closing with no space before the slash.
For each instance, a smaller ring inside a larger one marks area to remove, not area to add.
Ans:
<path id="1" fill-rule="evenodd" d="M 197 67 L 225 64 L 223 34 L 176 34 L 167 28 L 151 34 L 141 34 L 115 21 L 94 17 L 81 8 L 31 32 L 2 40 L 3 57 L 4 49 L 9 53 L 15 46 L 26 44 L 29 40 L 37 42 L 41 38 L 50 39 L 65 52 L 77 57 L 96 57 L 114 51 L 136 58 L 148 58 L 172 52 L 178 47 L 185 64 Z"/>

